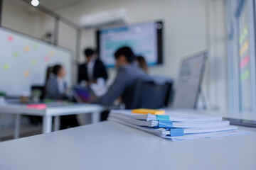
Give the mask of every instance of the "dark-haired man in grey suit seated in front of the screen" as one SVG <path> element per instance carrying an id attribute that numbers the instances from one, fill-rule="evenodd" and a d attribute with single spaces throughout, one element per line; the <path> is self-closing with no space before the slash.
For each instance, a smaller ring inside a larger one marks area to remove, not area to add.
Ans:
<path id="1" fill-rule="evenodd" d="M 114 53 L 117 66 L 117 77 L 110 86 L 105 96 L 98 98 L 92 103 L 103 106 L 112 106 L 115 99 L 121 97 L 122 102 L 129 106 L 132 101 L 132 91 L 135 81 L 141 77 L 147 77 L 146 72 L 134 64 L 135 55 L 129 47 L 121 47 Z"/>

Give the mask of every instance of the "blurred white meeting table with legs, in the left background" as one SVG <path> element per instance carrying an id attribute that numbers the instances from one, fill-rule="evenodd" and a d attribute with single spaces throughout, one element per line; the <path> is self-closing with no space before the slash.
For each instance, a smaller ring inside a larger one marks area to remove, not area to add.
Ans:
<path id="1" fill-rule="evenodd" d="M 55 116 L 54 130 L 58 130 L 60 124 L 60 115 L 76 115 L 82 113 L 92 113 L 92 123 L 100 120 L 100 112 L 104 108 L 94 104 L 56 104 L 48 105 L 46 109 L 31 109 L 23 104 L 1 104 L 0 113 L 16 115 L 14 138 L 19 137 L 21 115 L 38 115 L 43 117 L 43 133 L 52 131 L 52 120 Z M 1 118 L 0 118 L 1 120 Z M 0 122 L 1 125 L 1 122 Z"/>

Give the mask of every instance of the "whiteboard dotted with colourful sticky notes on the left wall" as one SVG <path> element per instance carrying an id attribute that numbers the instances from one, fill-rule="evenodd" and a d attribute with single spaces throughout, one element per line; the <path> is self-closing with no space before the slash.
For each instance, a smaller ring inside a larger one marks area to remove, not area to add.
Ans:
<path id="1" fill-rule="evenodd" d="M 31 93 L 32 85 L 45 83 L 46 69 L 62 64 L 72 83 L 71 52 L 13 30 L 0 28 L 0 91 L 8 96 Z"/>

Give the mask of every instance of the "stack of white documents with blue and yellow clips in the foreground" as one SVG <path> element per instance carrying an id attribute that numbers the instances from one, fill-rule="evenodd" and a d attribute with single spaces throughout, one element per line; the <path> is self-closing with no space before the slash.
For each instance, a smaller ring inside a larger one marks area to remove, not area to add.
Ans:
<path id="1" fill-rule="evenodd" d="M 228 120 L 222 120 L 221 116 L 177 111 L 154 114 L 154 110 L 152 111 L 150 113 L 150 110 L 112 110 L 108 120 L 173 141 L 247 134 L 239 131 L 237 126 L 230 125 Z"/>

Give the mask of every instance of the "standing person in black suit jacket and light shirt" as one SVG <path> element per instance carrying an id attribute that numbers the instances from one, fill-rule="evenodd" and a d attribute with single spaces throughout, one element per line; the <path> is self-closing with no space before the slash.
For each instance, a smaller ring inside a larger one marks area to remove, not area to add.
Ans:
<path id="1" fill-rule="evenodd" d="M 107 80 L 107 70 L 103 62 L 97 58 L 95 50 L 85 49 L 85 63 L 78 67 L 78 83 L 86 81 L 96 83 L 97 79 Z"/>

